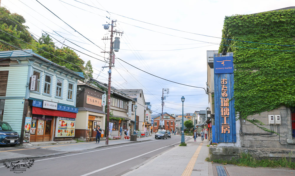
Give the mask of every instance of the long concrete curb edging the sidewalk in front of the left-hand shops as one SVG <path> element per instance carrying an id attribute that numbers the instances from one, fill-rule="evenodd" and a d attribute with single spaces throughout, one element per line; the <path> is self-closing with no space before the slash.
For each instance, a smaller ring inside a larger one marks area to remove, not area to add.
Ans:
<path id="1" fill-rule="evenodd" d="M 123 145 L 123 144 L 130 144 L 130 143 L 137 143 L 137 142 L 146 142 L 146 141 L 151 141 L 151 140 L 152 140 L 152 139 L 142 140 L 142 141 L 124 142 L 124 143 L 119 143 L 119 144 L 103 145 L 103 146 L 91 147 L 91 148 L 88 148 L 88 149 L 71 150 L 71 151 L 58 152 L 58 153 L 52 153 L 52 154 L 47 154 L 47 155 L 29 156 L 29 157 L 17 157 L 17 158 L 8 158 L 8 159 L 0 160 L 0 162 L 1 162 L 1 163 L 2 163 L 2 162 L 10 162 L 10 161 L 15 161 L 15 160 L 22 160 L 22 159 L 24 159 L 24 158 L 35 159 L 35 158 L 41 158 L 41 157 L 50 157 L 50 156 L 62 155 L 62 154 L 67 154 L 67 153 L 72 153 L 72 152 L 80 152 L 80 151 L 85 151 L 85 150 L 93 150 L 93 149 L 98 149 L 98 148 L 104 148 L 104 147 L 110 147 L 110 146 L 116 146 L 116 145 Z"/>

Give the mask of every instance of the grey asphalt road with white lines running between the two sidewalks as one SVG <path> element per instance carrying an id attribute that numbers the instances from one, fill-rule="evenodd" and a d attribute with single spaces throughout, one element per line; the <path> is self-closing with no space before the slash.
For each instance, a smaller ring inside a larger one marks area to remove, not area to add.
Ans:
<path id="1" fill-rule="evenodd" d="M 19 175 L 122 175 L 133 170 L 150 158 L 178 145 L 179 136 L 171 139 L 152 140 L 133 144 L 74 152 L 55 157 L 38 158 L 34 165 Z M 15 175 L 0 167 L 1 175 Z"/>

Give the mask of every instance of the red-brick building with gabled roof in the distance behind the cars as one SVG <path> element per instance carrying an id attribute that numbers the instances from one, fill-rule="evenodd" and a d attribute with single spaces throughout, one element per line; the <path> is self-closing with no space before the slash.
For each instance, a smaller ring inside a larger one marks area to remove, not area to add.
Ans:
<path id="1" fill-rule="evenodd" d="M 161 114 L 154 117 L 153 132 L 157 132 L 158 129 L 161 128 L 160 118 L 161 118 Z M 167 112 L 163 112 L 162 129 L 169 130 L 169 131 L 173 131 L 175 129 L 175 117 L 168 114 Z"/>

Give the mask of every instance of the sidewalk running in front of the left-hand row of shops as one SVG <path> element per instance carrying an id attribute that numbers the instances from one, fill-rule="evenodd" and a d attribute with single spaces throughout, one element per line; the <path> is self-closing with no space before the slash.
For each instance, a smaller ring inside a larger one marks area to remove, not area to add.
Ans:
<path id="1" fill-rule="evenodd" d="M 21 160 L 23 158 L 48 157 L 83 150 L 91 150 L 101 147 L 130 144 L 135 142 L 144 142 L 149 140 L 155 140 L 154 135 L 150 137 L 137 138 L 137 141 L 134 142 L 130 141 L 130 139 L 109 140 L 109 145 L 105 145 L 105 140 L 103 140 L 99 142 L 99 144 L 96 144 L 96 142 L 77 142 L 71 144 L 44 145 L 32 147 L 5 147 L 0 148 L 0 162 Z"/>

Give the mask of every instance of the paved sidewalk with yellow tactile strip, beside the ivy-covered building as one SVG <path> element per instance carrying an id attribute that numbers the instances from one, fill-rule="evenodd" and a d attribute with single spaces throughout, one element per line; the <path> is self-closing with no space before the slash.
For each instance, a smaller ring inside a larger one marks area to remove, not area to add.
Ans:
<path id="1" fill-rule="evenodd" d="M 201 142 L 201 137 L 198 137 L 197 142 L 190 139 L 186 144 L 186 147 L 173 147 L 124 176 L 213 175 L 211 162 L 205 161 L 208 157 L 207 140 Z"/>

